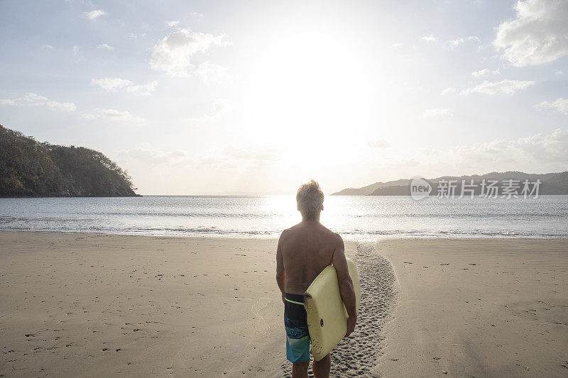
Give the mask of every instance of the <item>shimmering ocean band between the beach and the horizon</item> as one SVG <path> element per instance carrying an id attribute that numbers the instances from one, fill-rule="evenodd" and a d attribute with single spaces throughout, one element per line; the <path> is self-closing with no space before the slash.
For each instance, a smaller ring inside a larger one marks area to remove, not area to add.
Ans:
<path id="1" fill-rule="evenodd" d="M 0 230 L 274 238 L 301 220 L 294 196 L 0 199 Z M 350 240 L 567 238 L 568 196 L 327 196 L 322 223 Z"/>

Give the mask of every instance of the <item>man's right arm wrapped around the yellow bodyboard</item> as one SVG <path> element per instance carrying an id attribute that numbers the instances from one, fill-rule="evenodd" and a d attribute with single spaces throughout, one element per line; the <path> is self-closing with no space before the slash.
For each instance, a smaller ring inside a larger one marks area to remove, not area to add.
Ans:
<path id="1" fill-rule="evenodd" d="M 343 303 L 347 310 L 347 333 L 345 334 L 345 337 L 347 337 L 351 335 L 351 332 L 355 329 L 355 323 L 357 322 L 357 305 L 353 281 L 351 281 L 351 276 L 349 276 L 349 267 L 347 267 L 347 260 L 345 260 L 345 245 L 341 236 L 337 235 L 337 237 L 339 241 L 333 252 L 332 262 L 337 272 L 339 293 L 342 294 Z"/>

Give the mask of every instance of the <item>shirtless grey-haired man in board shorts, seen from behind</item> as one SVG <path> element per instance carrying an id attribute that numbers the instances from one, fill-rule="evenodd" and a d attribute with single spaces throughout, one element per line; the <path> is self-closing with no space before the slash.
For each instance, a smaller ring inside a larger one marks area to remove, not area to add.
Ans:
<path id="1" fill-rule="evenodd" d="M 357 321 L 355 291 L 349 277 L 343 240 L 320 223 L 320 213 L 324 209 L 320 185 L 314 180 L 303 184 L 297 190 L 296 202 L 302 221 L 283 231 L 276 251 L 276 282 L 284 302 L 286 357 L 293 364 L 293 378 L 307 377 L 310 365 L 310 334 L 303 294 L 327 265 L 333 264 L 337 270 L 339 292 L 349 316 L 345 336 L 353 332 Z M 312 366 L 316 378 L 329 377 L 330 369 L 329 354 L 320 361 L 314 361 Z"/>

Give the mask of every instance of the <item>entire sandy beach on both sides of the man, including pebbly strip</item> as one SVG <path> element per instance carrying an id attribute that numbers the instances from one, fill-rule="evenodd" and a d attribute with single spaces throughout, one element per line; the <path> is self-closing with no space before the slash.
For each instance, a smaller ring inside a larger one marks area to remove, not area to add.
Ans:
<path id="1" fill-rule="evenodd" d="M 283 376 L 276 243 L 1 232 L 0 374 Z M 568 373 L 568 240 L 385 239 L 346 255 L 361 313 L 332 372 Z"/>

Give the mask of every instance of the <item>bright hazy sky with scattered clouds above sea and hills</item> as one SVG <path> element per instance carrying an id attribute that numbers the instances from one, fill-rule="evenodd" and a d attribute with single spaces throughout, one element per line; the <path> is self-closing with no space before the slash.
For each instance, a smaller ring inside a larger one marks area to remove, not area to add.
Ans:
<path id="1" fill-rule="evenodd" d="M 139 194 L 568 169 L 568 1 L 0 0 L 0 124 Z"/>

